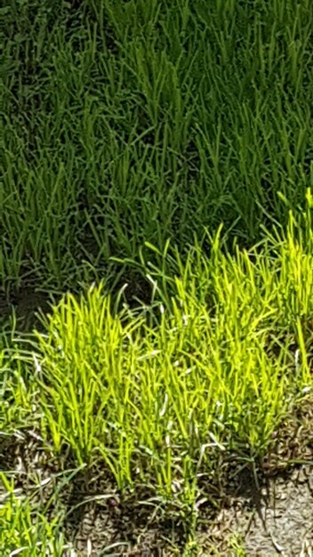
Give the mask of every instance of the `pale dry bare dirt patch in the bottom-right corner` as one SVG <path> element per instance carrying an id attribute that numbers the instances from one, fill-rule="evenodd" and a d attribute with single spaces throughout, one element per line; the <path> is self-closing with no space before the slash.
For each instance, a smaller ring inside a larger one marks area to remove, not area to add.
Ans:
<path id="1" fill-rule="evenodd" d="M 259 505 L 243 498 L 234 499 L 229 508 L 221 510 L 214 523 L 217 545 L 225 551 L 225 541 L 237 537 L 242 540 L 246 557 L 311 557 L 312 472 L 312 465 L 302 465 L 289 477 L 282 474 L 270 479 L 261 489 Z"/>

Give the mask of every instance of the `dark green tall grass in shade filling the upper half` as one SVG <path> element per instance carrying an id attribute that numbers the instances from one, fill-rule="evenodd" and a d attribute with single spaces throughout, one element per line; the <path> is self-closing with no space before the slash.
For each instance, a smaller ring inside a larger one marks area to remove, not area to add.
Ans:
<path id="1" fill-rule="evenodd" d="M 309 7 L 2 8 L 2 281 L 74 287 L 144 241 L 183 250 L 223 221 L 248 246 L 286 222 L 277 191 L 311 182 Z"/>

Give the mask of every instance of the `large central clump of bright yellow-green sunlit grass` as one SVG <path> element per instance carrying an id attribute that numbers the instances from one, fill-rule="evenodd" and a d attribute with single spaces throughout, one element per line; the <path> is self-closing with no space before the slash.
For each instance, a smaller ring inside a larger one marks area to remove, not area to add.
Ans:
<path id="1" fill-rule="evenodd" d="M 268 246 L 254 263 L 239 251 L 221 255 L 217 239 L 210 258 L 197 247 L 184 265 L 176 253 L 169 262 L 175 292 L 166 305 L 163 296 L 155 327 L 142 318 L 123 324 L 102 287 L 80 301 L 68 295 L 46 335 L 38 335 L 36 356 L 55 450 L 66 442 L 79 464 L 100 453 L 122 490 L 146 454 L 160 494 L 171 497 L 176 468 L 186 477 L 190 466 L 190 480 L 196 478 L 195 462 L 214 460 L 216 449 L 234 443 L 252 458 L 263 456 L 288 396 L 311 383 L 304 332 L 311 255 L 287 238 L 280 261 L 267 266 Z M 290 243 L 297 254 L 291 260 Z M 294 287 L 299 262 L 302 289 Z M 287 345 L 275 359 L 265 350 L 278 331 L 295 336 L 298 371 Z"/>

